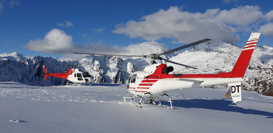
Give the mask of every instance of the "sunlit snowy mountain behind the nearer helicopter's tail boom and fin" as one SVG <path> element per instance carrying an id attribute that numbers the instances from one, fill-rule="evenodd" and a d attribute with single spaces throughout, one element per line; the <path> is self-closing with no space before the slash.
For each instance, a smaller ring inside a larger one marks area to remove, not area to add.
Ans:
<path id="1" fill-rule="evenodd" d="M 173 73 L 218 73 L 230 72 L 235 65 L 243 48 L 224 41 L 210 41 L 206 44 L 194 46 L 189 50 L 171 58 L 171 61 L 193 66 L 190 69 L 183 66 L 167 63 L 173 66 Z M 257 46 L 251 57 L 245 77 L 253 80 L 243 82 L 243 88 L 257 91 L 263 95 L 273 96 L 273 47 Z"/>

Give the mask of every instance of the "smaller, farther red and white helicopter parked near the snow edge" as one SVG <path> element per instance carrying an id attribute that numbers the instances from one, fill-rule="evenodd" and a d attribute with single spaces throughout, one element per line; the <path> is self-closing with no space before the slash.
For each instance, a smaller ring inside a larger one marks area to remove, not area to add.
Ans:
<path id="1" fill-rule="evenodd" d="M 44 80 L 47 80 L 48 76 L 51 77 L 57 77 L 57 78 L 62 78 L 62 79 L 67 79 L 67 85 L 71 84 L 73 86 L 80 86 L 81 84 L 89 84 L 94 81 L 94 78 L 85 71 L 80 71 L 77 67 L 80 65 L 69 65 L 69 66 L 75 66 L 76 68 L 69 68 L 66 73 L 47 73 L 47 69 L 45 66 L 44 68 Z M 73 82 L 73 83 L 69 83 Z"/>

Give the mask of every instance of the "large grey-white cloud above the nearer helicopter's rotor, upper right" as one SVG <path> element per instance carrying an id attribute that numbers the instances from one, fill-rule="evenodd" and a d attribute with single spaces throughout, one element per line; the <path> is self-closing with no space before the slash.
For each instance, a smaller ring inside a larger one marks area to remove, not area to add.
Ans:
<path id="1" fill-rule="evenodd" d="M 258 6 L 243 6 L 231 10 L 208 9 L 205 13 L 181 11 L 178 7 L 159 10 L 140 21 L 117 24 L 113 33 L 148 41 L 171 38 L 174 42 L 190 43 L 204 38 L 239 42 L 237 32 L 257 28 L 265 20 Z"/>

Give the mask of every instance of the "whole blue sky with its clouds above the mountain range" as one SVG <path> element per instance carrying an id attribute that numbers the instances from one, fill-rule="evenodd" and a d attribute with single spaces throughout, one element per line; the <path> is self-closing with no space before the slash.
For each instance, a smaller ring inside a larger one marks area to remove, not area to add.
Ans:
<path id="1" fill-rule="evenodd" d="M 242 47 L 252 30 L 262 32 L 257 45 L 273 46 L 271 5 L 256 0 L 0 0 L 0 54 L 61 58 L 67 52 L 106 53 L 107 48 L 137 54 L 140 44 L 168 49 L 207 37 Z"/>

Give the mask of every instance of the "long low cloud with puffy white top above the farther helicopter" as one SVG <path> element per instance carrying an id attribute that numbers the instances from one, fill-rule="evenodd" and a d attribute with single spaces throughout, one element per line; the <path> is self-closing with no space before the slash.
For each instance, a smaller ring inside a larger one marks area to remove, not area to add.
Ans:
<path id="1" fill-rule="evenodd" d="M 139 55 L 142 53 L 160 53 L 160 50 L 170 50 L 169 47 L 158 42 L 142 42 L 129 46 L 109 46 L 100 41 L 98 44 L 75 45 L 71 35 L 67 35 L 63 30 L 55 28 L 46 33 L 44 39 L 30 40 L 24 47 L 45 53 L 63 54 L 64 56 L 70 56 L 69 59 L 79 59 L 84 56 L 69 54 L 73 52 Z"/>

